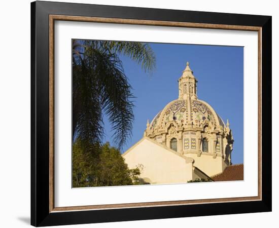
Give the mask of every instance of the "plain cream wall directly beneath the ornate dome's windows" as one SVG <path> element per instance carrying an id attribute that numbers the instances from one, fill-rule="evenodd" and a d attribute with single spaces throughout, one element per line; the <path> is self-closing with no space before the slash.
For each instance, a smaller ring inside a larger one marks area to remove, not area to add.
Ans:
<path id="1" fill-rule="evenodd" d="M 222 173 L 227 167 L 223 158 L 217 156 L 213 158 L 212 155 L 206 155 L 202 153 L 200 157 L 197 154 L 186 154 L 187 157 L 194 159 L 194 166 L 199 168 L 202 172 L 206 173 L 208 176 L 213 176 Z"/>

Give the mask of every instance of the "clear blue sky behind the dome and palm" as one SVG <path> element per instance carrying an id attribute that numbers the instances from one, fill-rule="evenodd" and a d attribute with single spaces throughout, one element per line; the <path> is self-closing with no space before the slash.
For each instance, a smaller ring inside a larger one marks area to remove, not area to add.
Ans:
<path id="1" fill-rule="evenodd" d="M 147 119 L 152 121 L 164 106 L 178 99 L 178 79 L 189 61 L 197 84 L 198 99 L 209 103 L 226 123 L 234 144 L 232 163 L 243 163 L 243 48 L 228 46 L 150 43 L 156 56 L 152 74 L 127 57 L 121 57 L 133 90 L 133 135 L 121 152 L 143 137 Z M 111 126 L 104 119 L 105 141 L 112 143 Z"/>

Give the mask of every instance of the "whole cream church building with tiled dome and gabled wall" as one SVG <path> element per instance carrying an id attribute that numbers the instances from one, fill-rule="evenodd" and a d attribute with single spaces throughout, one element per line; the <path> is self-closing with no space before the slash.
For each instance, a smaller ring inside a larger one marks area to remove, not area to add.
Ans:
<path id="1" fill-rule="evenodd" d="M 141 164 L 141 178 L 151 184 L 228 180 L 227 174 L 241 174 L 241 167 L 242 178 L 230 178 L 243 180 L 243 165 L 231 162 L 229 121 L 225 124 L 212 106 L 198 99 L 189 62 L 178 80 L 178 94 L 147 121 L 144 137 L 122 155 L 128 167 Z"/>

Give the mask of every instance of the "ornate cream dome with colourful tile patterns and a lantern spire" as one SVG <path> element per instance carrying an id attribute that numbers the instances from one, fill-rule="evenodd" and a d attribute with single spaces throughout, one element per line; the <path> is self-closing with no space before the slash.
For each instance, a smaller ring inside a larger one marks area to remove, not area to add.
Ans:
<path id="1" fill-rule="evenodd" d="M 225 125 L 209 104 L 197 98 L 197 80 L 189 62 L 178 82 L 179 98 L 147 122 L 145 136 L 182 155 L 221 156 L 230 165 L 233 138 L 229 122 Z"/>

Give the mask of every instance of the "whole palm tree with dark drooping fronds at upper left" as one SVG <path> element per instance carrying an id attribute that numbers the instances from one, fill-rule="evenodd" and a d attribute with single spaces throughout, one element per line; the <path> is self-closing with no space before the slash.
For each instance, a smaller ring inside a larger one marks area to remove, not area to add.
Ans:
<path id="1" fill-rule="evenodd" d="M 131 136 L 133 94 L 119 55 L 130 57 L 145 72 L 155 67 L 148 44 L 73 40 L 73 141 L 79 137 L 87 145 L 100 144 L 103 113 L 109 117 L 117 148 Z"/>

